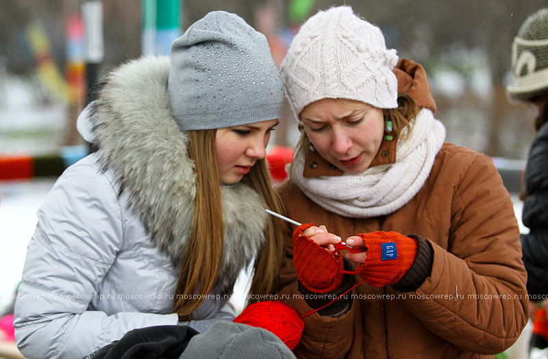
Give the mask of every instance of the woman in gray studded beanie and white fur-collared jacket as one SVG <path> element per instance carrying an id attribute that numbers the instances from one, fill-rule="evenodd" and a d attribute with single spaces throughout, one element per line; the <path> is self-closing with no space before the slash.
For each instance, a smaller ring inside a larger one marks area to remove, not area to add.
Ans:
<path id="1" fill-rule="evenodd" d="M 284 224 L 264 212 L 282 211 L 264 157 L 283 96 L 266 38 L 226 12 L 190 26 L 171 57 L 105 77 L 84 116 L 99 150 L 38 211 L 15 308 L 21 352 L 79 358 L 134 328 L 232 320 L 253 258 L 251 293 L 271 293 Z"/>

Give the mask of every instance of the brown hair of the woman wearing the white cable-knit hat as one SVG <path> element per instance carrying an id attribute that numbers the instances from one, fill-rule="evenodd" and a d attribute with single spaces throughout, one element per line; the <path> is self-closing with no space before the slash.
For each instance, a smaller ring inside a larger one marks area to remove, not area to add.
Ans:
<path id="1" fill-rule="evenodd" d="M 342 105 L 344 107 L 347 107 L 349 109 L 360 109 L 364 106 L 363 103 L 360 103 L 359 101 L 353 101 L 353 100 L 347 100 L 345 98 L 336 98 L 336 103 L 339 105 Z M 412 120 L 416 117 L 417 114 L 419 114 L 419 111 L 421 108 L 419 107 L 419 104 L 416 103 L 414 98 L 409 96 L 408 94 L 399 94 L 397 98 L 398 107 L 395 109 L 384 109 L 383 110 L 383 116 L 385 121 L 392 121 L 393 130 L 390 132 L 390 135 L 392 135 L 395 139 L 401 137 L 401 131 L 408 127 L 409 131 L 411 132 L 412 128 Z M 296 150 L 295 150 L 295 156 L 297 157 L 301 155 L 301 152 L 305 152 L 310 148 L 311 142 L 308 138 L 308 135 L 306 135 L 306 131 L 302 127 L 301 128 L 301 137 L 299 138 L 299 142 L 297 142 Z M 295 170 L 294 167 L 295 161 L 291 163 L 290 166 L 290 176 L 293 174 L 293 171 Z"/>

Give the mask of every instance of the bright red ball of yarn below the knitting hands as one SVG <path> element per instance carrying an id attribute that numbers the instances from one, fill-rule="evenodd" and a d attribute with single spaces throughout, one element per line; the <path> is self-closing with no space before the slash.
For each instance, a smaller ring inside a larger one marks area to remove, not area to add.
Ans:
<path id="1" fill-rule="evenodd" d="M 258 302 L 245 308 L 234 323 L 263 328 L 276 334 L 293 350 L 301 340 L 304 321 L 297 311 L 282 302 Z"/>

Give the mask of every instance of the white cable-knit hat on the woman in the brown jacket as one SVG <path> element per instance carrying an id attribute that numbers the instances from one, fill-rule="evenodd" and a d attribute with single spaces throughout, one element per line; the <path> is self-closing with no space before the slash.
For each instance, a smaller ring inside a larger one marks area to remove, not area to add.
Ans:
<path id="1" fill-rule="evenodd" d="M 289 103 L 303 108 L 323 98 L 347 98 L 380 109 L 397 107 L 398 57 L 382 31 L 349 6 L 318 12 L 303 24 L 282 63 Z"/>

